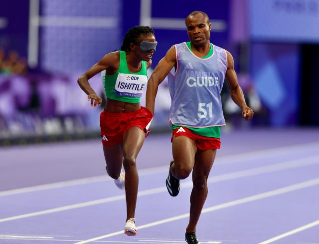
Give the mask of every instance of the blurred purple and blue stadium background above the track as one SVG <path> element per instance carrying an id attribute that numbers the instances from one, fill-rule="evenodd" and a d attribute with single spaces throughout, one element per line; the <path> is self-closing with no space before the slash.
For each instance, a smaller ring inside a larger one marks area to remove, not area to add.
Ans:
<path id="1" fill-rule="evenodd" d="M 193 10 L 211 18 L 211 42 L 230 51 L 255 117 L 222 99 L 226 129 L 319 126 L 319 0 L 4 0 L 0 7 L 0 146 L 99 138 L 99 113 L 77 77 L 121 47 L 134 25 L 154 28 L 153 69 L 187 41 Z M 150 73 L 152 70 L 150 71 Z M 103 94 L 100 76 L 90 80 Z M 145 105 L 145 99 L 142 99 Z M 153 131 L 168 131 L 160 86 Z"/>

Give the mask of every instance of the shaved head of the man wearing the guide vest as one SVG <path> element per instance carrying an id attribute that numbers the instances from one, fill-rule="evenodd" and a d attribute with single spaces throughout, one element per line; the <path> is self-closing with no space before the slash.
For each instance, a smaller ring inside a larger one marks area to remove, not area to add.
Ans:
<path id="1" fill-rule="evenodd" d="M 189 40 L 194 46 L 204 45 L 210 38 L 211 24 L 201 13 L 189 16 L 185 21 Z"/>

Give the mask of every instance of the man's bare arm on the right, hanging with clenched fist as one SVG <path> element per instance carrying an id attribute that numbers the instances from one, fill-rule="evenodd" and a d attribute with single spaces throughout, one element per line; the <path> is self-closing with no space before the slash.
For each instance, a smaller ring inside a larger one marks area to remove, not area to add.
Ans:
<path id="1" fill-rule="evenodd" d="M 226 80 L 228 82 L 231 98 L 240 107 L 243 117 L 246 120 L 249 120 L 254 116 L 254 112 L 250 107 L 247 106 L 245 102 L 243 90 L 238 84 L 233 56 L 228 51 L 226 51 L 226 53 L 227 53 Z"/>

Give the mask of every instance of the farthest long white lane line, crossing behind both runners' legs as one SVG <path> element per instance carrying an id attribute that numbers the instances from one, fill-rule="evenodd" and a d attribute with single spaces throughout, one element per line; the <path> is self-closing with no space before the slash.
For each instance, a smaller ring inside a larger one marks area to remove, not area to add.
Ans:
<path id="1" fill-rule="evenodd" d="M 275 149 L 258 150 L 258 151 L 254 151 L 250 153 L 241 153 L 241 154 L 234 154 L 230 156 L 222 156 L 222 157 L 217 157 L 215 161 L 216 163 L 235 163 L 235 162 L 241 162 L 246 160 L 252 161 L 252 160 L 259 159 L 261 157 L 282 156 L 282 155 L 288 154 L 291 151 L 295 151 L 297 149 L 298 150 L 303 148 L 310 149 L 310 147 L 318 148 L 319 143 L 316 142 L 316 143 L 299 144 L 299 145 L 285 146 L 285 147 L 280 147 Z M 167 165 L 139 169 L 139 175 L 147 175 L 147 174 L 161 173 L 161 172 L 167 172 Z M 26 192 L 32 192 L 32 191 L 39 191 L 39 190 L 54 189 L 54 188 L 73 186 L 78 184 L 104 181 L 104 180 L 105 181 L 112 180 L 112 178 L 110 178 L 107 175 L 99 175 L 99 176 L 86 177 L 86 178 L 80 178 L 75 180 L 60 181 L 55 183 L 48 183 L 43 185 L 29 186 L 29 187 L 23 187 L 18 189 L 0 191 L 0 196 L 20 194 L 20 193 L 26 193 Z"/>

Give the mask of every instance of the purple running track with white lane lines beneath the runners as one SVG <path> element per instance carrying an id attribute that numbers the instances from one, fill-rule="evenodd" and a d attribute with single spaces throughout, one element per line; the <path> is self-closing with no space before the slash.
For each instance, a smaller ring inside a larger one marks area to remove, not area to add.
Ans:
<path id="1" fill-rule="evenodd" d="M 151 134 L 138 157 L 138 235 L 127 237 L 100 141 L 1 148 L 0 244 L 185 243 L 191 177 L 170 197 L 170 159 L 170 135 Z M 223 132 L 208 191 L 202 244 L 319 244 L 319 129 Z"/>

